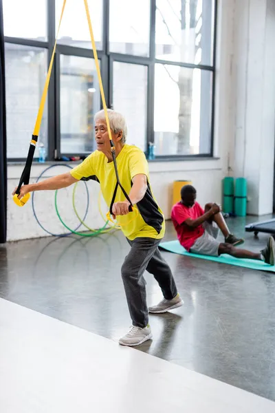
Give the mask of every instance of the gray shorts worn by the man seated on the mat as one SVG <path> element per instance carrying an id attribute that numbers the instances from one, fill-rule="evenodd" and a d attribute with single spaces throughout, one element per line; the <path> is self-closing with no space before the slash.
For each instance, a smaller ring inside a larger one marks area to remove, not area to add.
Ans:
<path id="1" fill-rule="evenodd" d="M 219 227 L 216 222 L 203 222 L 204 233 L 199 237 L 195 244 L 190 248 L 190 253 L 201 255 L 219 256 L 219 242 L 217 237 L 219 235 Z"/>

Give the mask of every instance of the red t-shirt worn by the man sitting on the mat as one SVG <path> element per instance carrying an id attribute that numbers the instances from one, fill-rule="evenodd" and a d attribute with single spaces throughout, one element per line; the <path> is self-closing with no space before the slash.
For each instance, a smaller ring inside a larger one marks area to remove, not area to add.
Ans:
<path id="1" fill-rule="evenodd" d="M 204 229 L 202 224 L 197 226 L 197 228 L 190 228 L 182 224 L 188 218 L 197 220 L 203 213 L 204 211 L 198 202 L 195 202 L 191 208 L 186 207 L 184 204 L 181 204 L 181 202 L 177 202 L 177 204 L 173 206 L 171 218 L 177 231 L 177 238 L 187 251 L 189 251 L 192 245 L 195 244 L 195 241 L 203 235 Z"/>

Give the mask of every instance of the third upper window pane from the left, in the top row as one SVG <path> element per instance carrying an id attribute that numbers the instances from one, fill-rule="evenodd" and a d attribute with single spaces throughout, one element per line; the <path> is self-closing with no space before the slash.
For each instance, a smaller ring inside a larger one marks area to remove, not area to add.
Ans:
<path id="1" fill-rule="evenodd" d="M 110 0 L 110 52 L 149 56 L 150 0 Z"/>

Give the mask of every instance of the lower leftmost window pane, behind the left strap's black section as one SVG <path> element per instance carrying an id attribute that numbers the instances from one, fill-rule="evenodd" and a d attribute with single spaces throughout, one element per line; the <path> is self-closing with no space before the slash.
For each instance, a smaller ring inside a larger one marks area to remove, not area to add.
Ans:
<path id="1" fill-rule="evenodd" d="M 47 75 L 47 51 L 5 43 L 8 158 L 26 158 Z M 47 153 L 47 102 L 39 133 Z M 38 153 L 34 156 L 38 158 Z"/>

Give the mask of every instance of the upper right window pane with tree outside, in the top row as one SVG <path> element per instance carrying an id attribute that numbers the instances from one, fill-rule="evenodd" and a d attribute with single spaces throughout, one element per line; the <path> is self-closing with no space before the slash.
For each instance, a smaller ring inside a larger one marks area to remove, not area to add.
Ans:
<path id="1" fill-rule="evenodd" d="M 212 65 L 214 0 L 157 0 L 157 59 Z"/>

